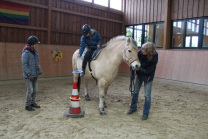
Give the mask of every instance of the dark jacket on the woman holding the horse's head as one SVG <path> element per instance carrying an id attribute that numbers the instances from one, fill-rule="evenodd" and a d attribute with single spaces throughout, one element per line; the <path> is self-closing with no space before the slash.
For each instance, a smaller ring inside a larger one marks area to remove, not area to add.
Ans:
<path id="1" fill-rule="evenodd" d="M 152 61 L 149 61 L 145 55 L 142 54 L 142 51 L 138 52 L 138 58 L 141 63 L 139 71 L 137 71 L 137 76 L 143 81 L 152 81 L 155 75 L 156 65 L 158 62 L 158 53 L 154 55 Z"/>

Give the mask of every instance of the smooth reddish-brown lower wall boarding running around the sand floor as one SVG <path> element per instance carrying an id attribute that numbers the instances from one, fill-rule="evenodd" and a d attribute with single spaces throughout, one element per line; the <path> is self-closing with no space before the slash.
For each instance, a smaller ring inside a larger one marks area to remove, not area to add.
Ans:
<path id="1" fill-rule="evenodd" d="M 0 80 L 23 79 L 21 54 L 24 45 L 0 43 Z M 72 54 L 78 48 L 68 45 L 39 45 L 37 50 L 43 70 L 40 77 L 71 76 Z M 63 53 L 63 60 L 59 62 L 53 60 L 51 51 L 55 49 Z M 157 50 L 157 52 L 159 59 L 155 77 L 208 85 L 208 51 Z M 128 65 L 122 63 L 119 72 L 129 73 Z"/>

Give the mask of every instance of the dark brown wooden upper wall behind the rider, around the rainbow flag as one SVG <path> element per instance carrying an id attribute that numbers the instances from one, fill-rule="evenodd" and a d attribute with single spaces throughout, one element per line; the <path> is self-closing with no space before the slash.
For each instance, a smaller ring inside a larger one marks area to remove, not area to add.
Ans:
<path id="1" fill-rule="evenodd" d="M 40 37 L 39 39 L 42 43 L 79 45 L 82 35 L 81 28 L 84 24 L 89 24 L 99 33 L 99 29 L 102 29 L 103 31 L 100 35 L 104 38 L 103 43 L 106 43 L 107 40 L 114 36 L 122 34 L 121 30 L 113 31 L 112 29 L 112 26 L 123 24 L 122 12 L 103 8 L 102 6 L 93 6 L 88 2 L 51 0 L 50 7 L 49 0 L 5 1 L 29 6 L 29 26 L 0 23 L 1 30 L 3 30 L 0 32 L 0 36 L 6 36 L 1 37 L 2 42 L 25 43 L 25 38 L 28 38 L 30 35 L 38 35 L 37 37 Z M 49 13 L 51 13 L 51 19 L 48 17 Z M 132 17 L 132 19 L 134 20 L 135 18 Z M 98 29 L 98 22 L 104 23 L 104 26 L 99 25 Z M 111 27 L 107 26 L 108 24 Z M 28 31 L 28 29 L 31 29 L 31 31 Z M 27 35 L 18 35 L 14 31 Z M 8 38 L 9 36 L 10 38 Z M 69 42 L 68 37 L 73 38 L 72 41 Z"/>

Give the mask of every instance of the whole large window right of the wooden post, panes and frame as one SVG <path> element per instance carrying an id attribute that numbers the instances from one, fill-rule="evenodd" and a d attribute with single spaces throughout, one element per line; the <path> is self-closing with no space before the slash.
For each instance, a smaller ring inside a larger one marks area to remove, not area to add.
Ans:
<path id="1" fill-rule="evenodd" d="M 172 48 L 208 48 L 208 18 L 172 22 Z M 179 25 L 178 25 L 179 24 Z"/>

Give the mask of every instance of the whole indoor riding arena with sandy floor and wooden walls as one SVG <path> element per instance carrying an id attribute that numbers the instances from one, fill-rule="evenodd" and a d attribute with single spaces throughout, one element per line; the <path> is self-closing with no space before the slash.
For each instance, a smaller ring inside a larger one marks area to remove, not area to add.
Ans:
<path id="1" fill-rule="evenodd" d="M 147 120 L 142 120 L 144 84 L 137 111 L 127 114 L 131 87 L 137 84 L 124 59 L 107 91 L 106 115 L 99 112 L 99 82 L 89 80 L 90 101 L 85 99 L 84 77 L 80 89 L 74 85 L 72 55 L 80 48 L 85 24 L 100 34 L 102 44 L 120 35 L 133 38 L 138 50 L 146 42 L 156 44 Z M 42 69 L 36 94 L 41 108 L 35 111 L 25 107 L 21 61 L 30 36 L 40 41 L 36 50 Z M 1 0 L 0 138 L 207 139 L 207 61 L 207 0 Z M 67 117 L 75 104 L 83 116 Z"/>

